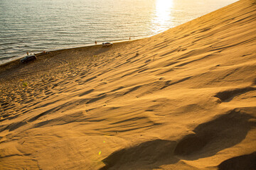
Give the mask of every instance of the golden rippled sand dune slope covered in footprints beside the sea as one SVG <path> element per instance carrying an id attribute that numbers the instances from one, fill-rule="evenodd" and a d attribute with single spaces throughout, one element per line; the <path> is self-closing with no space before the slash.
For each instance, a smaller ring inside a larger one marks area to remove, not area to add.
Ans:
<path id="1" fill-rule="evenodd" d="M 256 169 L 256 3 L 0 68 L 0 169 Z"/>

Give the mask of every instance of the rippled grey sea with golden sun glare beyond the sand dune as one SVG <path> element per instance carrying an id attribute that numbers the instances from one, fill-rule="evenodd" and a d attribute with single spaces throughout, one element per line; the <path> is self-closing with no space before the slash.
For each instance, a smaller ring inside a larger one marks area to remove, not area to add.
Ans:
<path id="1" fill-rule="evenodd" d="M 237 0 L 0 0 L 0 64 L 26 52 L 144 38 Z"/>

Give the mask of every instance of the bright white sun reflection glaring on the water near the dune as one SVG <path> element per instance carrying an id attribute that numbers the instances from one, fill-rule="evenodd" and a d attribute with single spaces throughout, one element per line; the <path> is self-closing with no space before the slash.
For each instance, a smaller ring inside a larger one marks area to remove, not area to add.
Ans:
<path id="1" fill-rule="evenodd" d="M 159 33 L 171 20 L 171 10 L 174 7 L 173 0 L 156 0 L 156 11 L 153 19 L 154 32 Z"/>

